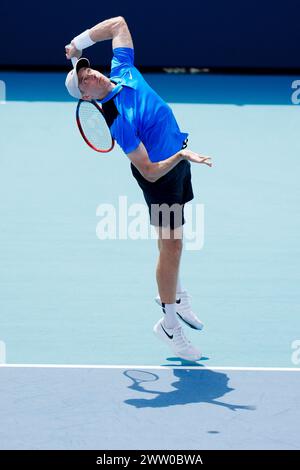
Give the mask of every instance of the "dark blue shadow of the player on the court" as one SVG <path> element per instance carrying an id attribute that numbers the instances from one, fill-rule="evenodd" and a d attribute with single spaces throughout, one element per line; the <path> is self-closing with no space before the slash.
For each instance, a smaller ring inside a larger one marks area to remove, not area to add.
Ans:
<path id="1" fill-rule="evenodd" d="M 228 386 L 229 377 L 224 373 L 208 369 L 174 369 L 173 374 L 177 380 L 171 383 L 174 390 L 168 392 L 159 389 L 149 390 L 141 385 L 142 381 L 133 380 L 129 386 L 130 389 L 153 395 L 153 398 L 134 398 L 125 400 L 124 403 L 135 408 L 162 408 L 190 403 L 208 403 L 228 408 L 231 411 L 255 410 L 253 406 L 237 405 L 220 400 L 234 390 Z M 151 373 L 151 375 L 155 376 L 154 380 L 160 379 L 157 374 Z"/>

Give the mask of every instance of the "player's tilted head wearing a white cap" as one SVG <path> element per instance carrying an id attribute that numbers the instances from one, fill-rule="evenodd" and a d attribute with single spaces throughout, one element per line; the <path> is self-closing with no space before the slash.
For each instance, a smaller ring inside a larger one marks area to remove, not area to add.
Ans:
<path id="1" fill-rule="evenodd" d="M 106 95 L 109 85 L 109 79 L 98 70 L 91 69 L 89 60 L 83 57 L 66 78 L 68 92 L 78 99 L 101 99 Z"/>

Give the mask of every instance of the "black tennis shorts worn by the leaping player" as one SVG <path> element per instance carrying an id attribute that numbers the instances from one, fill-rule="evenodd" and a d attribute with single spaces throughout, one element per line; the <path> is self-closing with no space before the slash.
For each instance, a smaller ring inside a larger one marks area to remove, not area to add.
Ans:
<path id="1" fill-rule="evenodd" d="M 194 198 L 190 162 L 180 161 L 155 183 L 147 181 L 132 163 L 131 171 L 143 191 L 151 225 L 172 230 L 183 225 L 184 204 Z"/>

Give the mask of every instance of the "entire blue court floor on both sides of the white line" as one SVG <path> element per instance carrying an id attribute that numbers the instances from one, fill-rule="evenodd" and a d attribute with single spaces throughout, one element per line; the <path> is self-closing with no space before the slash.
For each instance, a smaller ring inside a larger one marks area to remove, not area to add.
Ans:
<path id="1" fill-rule="evenodd" d="M 97 237 L 99 205 L 119 233 L 120 197 L 143 203 L 126 156 L 85 146 L 63 74 L 1 74 L 1 449 L 300 448 L 296 78 L 148 78 L 214 163 L 192 167 L 204 243 L 181 266 L 193 367 L 152 333 L 156 241 Z"/>

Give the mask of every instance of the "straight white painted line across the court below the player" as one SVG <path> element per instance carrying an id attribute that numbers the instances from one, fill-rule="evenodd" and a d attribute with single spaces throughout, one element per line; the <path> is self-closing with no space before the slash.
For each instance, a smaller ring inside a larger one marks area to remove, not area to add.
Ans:
<path id="1" fill-rule="evenodd" d="M 170 370 L 170 369 L 193 369 L 193 370 L 224 370 L 224 371 L 257 371 L 257 372 L 300 372 L 300 367 L 205 367 L 205 366 L 153 366 L 153 365 L 81 365 L 81 364 L 0 364 L 0 369 L 148 369 L 148 370 Z"/>

